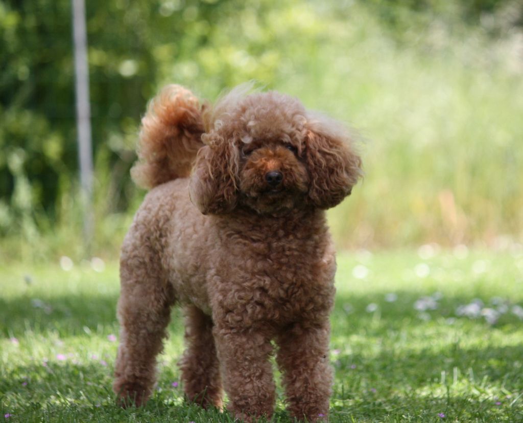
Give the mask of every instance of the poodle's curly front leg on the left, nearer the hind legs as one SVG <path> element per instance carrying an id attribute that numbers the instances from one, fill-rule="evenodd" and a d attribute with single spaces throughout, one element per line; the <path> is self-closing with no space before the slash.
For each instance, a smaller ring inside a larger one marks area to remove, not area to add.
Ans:
<path id="1" fill-rule="evenodd" d="M 270 336 L 253 328 L 217 324 L 214 339 L 229 396 L 228 409 L 246 422 L 261 416 L 270 418 L 275 402 Z"/>

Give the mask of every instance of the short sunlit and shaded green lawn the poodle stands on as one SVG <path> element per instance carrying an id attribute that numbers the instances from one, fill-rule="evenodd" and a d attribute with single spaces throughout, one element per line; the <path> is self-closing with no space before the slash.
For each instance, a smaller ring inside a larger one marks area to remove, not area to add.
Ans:
<path id="1" fill-rule="evenodd" d="M 9 264 L 0 292 L 0 421 L 232 421 L 185 404 L 172 386 L 183 350 L 178 311 L 150 402 L 114 405 L 115 263 L 101 272 L 89 262 L 70 271 Z M 428 296 L 436 308 L 416 310 Z M 331 421 L 523 420 L 523 327 L 513 313 L 523 305 L 521 251 L 343 253 L 336 298 Z M 458 315 L 474 298 L 484 314 L 502 312 L 495 323 Z M 281 389 L 278 398 L 275 421 L 288 421 Z"/>

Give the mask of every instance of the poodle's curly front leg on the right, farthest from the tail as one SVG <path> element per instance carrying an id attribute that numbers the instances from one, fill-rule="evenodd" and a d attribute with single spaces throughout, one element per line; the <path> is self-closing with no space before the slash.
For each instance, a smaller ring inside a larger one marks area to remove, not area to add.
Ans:
<path id="1" fill-rule="evenodd" d="M 328 359 L 329 322 L 295 323 L 278 335 L 278 366 L 291 417 L 326 420 L 333 380 Z"/>

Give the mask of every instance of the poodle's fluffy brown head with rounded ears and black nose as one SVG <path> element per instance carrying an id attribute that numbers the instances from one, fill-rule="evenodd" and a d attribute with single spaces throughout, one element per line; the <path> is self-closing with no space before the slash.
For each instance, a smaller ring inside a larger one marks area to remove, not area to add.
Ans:
<path id="1" fill-rule="evenodd" d="M 350 194 L 361 160 L 342 125 L 276 92 L 231 91 L 204 113 L 206 146 L 189 185 L 203 214 L 329 208 Z"/>

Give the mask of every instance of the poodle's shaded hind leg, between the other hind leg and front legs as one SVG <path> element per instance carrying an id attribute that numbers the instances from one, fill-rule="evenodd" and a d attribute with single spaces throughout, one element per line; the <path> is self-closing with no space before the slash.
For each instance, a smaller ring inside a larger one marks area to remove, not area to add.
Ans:
<path id="1" fill-rule="evenodd" d="M 187 349 L 179 364 L 187 399 L 205 408 L 221 408 L 223 389 L 212 326 L 210 316 L 195 306 L 186 307 Z"/>

